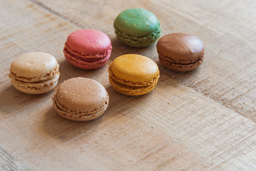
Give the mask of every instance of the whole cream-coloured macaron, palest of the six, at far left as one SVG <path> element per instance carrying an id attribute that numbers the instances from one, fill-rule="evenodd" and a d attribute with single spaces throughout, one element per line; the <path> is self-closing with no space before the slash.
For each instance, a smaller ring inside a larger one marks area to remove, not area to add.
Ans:
<path id="1" fill-rule="evenodd" d="M 11 63 L 9 78 L 23 93 L 47 93 L 58 83 L 58 67 L 56 58 L 48 53 L 24 53 Z"/>

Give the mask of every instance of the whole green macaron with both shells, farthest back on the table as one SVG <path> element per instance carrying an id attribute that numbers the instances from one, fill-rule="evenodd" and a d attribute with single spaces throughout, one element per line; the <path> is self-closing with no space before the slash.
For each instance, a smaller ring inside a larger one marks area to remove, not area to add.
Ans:
<path id="1" fill-rule="evenodd" d="M 126 9 L 114 21 L 117 38 L 132 47 L 145 47 L 158 40 L 161 34 L 156 16 L 145 9 Z"/>

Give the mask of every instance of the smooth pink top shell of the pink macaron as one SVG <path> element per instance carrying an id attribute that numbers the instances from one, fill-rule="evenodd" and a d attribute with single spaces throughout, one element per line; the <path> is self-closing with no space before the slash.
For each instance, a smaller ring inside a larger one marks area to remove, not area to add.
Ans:
<path id="1" fill-rule="evenodd" d="M 101 31 L 82 29 L 71 33 L 66 43 L 79 53 L 104 53 L 111 48 L 111 39 Z"/>

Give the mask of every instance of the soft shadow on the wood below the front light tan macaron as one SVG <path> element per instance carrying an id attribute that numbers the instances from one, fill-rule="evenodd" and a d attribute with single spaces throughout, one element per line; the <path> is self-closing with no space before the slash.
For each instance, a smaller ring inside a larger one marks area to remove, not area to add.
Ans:
<path id="1" fill-rule="evenodd" d="M 126 104 L 135 98 L 134 96 L 121 95 L 111 87 L 107 88 L 107 91 L 110 101 L 108 109 L 101 117 L 96 120 L 84 122 L 67 120 L 58 115 L 53 109 L 53 106 L 51 106 L 41 114 L 43 118 L 41 119 L 41 123 L 39 123 L 39 133 L 60 140 L 61 142 L 66 142 L 91 137 L 93 134 L 97 133 L 98 130 L 107 131 L 111 128 L 113 121 L 118 122 L 118 120 L 121 119 L 118 118 L 118 115 L 123 115 L 122 108 L 130 108 Z M 126 113 L 126 115 L 128 115 L 128 113 Z M 105 129 L 100 129 L 103 127 Z"/>

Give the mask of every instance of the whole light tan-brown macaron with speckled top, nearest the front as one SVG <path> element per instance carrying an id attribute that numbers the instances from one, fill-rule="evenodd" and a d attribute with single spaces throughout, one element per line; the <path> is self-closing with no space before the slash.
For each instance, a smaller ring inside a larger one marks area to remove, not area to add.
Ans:
<path id="1" fill-rule="evenodd" d="M 71 78 L 58 86 L 53 108 L 68 120 L 86 121 L 101 116 L 108 108 L 106 89 L 90 78 Z"/>

